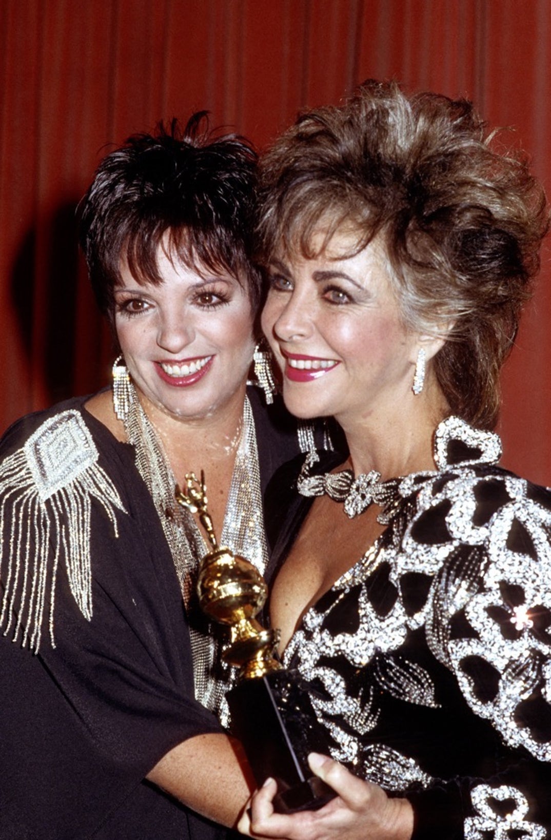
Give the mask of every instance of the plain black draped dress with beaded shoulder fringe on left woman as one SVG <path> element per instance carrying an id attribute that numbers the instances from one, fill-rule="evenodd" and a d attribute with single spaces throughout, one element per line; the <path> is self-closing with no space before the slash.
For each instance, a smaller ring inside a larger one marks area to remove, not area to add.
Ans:
<path id="1" fill-rule="evenodd" d="M 296 433 L 249 399 L 264 490 Z M 0 444 L 0 837 L 207 840 L 220 828 L 144 781 L 220 727 L 194 699 L 180 586 L 134 449 L 84 402 L 24 417 Z"/>

